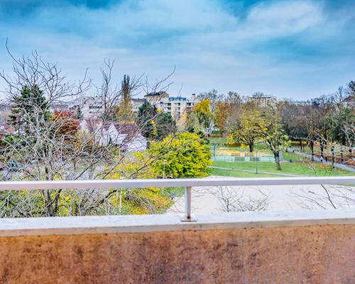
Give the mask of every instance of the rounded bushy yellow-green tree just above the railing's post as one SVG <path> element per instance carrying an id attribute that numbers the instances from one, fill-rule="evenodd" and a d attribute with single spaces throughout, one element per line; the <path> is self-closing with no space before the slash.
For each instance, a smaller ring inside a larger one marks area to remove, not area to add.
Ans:
<path id="1" fill-rule="evenodd" d="M 211 164 L 211 151 L 204 139 L 195 133 L 168 136 L 151 144 L 148 153 L 160 156 L 152 167 L 157 175 L 167 178 L 194 178 L 206 174 Z M 163 174 L 164 173 L 164 174 Z"/>

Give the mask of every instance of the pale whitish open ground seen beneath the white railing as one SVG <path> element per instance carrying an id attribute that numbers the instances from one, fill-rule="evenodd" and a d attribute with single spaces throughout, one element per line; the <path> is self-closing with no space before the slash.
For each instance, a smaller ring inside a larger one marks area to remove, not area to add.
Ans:
<path id="1" fill-rule="evenodd" d="M 213 177 L 209 177 L 213 178 Z M 218 177 L 231 178 L 231 177 Z M 238 180 L 239 178 L 236 178 Z M 284 210 L 301 210 L 301 209 L 320 209 L 315 202 L 311 202 L 310 198 L 319 197 L 318 202 L 324 208 L 332 209 L 331 204 L 327 202 L 328 194 L 332 194 L 332 200 L 338 204 L 342 204 L 339 208 L 354 208 L 355 204 L 346 205 L 344 198 L 339 192 L 343 192 L 344 188 L 339 185 L 327 186 L 328 192 L 324 190 L 322 185 L 263 185 L 263 186 L 228 186 L 228 187 L 192 187 L 192 213 L 206 214 L 222 212 L 223 205 L 228 202 L 256 200 L 261 195 L 268 195 L 268 206 L 266 210 L 284 211 Z M 225 195 L 221 195 L 221 190 Z M 237 193 L 238 196 L 235 196 Z M 345 192 L 344 192 L 345 193 Z M 344 195 L 345 196 L 345 195 Z M 347 191 L 346 198 L 355 200 L 355 187 Z M 243 203 L 243 202 L 242 202 Z M 183 213 L 185 208 L 185 197 L 179 197 L 170 209 L 168 214 Z"/>

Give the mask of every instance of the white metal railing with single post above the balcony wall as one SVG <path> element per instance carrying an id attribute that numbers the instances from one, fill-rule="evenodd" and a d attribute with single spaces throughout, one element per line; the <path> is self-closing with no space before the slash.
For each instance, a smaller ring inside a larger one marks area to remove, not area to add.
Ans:
<path id="1" fill-rule="evenodd" d="M 354 184 L 355 176 L 300 178 L 185 178 L 163 180 L 51 180 L 0 182 L 4 190 L 106 189 L 132 187 L 185 187 L 185 216 L 182 221 L 194 221 L 191 216 L 191 189 L 202 186 L 255 185 L 345 185 Z"/>

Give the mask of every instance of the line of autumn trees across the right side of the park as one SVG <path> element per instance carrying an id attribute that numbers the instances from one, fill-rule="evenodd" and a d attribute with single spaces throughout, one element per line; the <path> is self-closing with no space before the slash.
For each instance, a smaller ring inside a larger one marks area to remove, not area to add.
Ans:
<path id="1" fill-rule="evenodd" d="M 249 147 L 253 152 L 256 142 L 265 143 L 275 156 L 280 169 L 279 153 L 290 146 L 291 141 L 307 142 L 315 155 L 315 145 L 320 146 L 320 155 L 330 148 L 334 163 L 335 148 L 351 149 L 355 138 L 355 82 L 346 88 L 339 87 L 334 94 L 324 95 L 307 102 L 276 100 L 263 93 L 243 97 L 237 92 L 226 95 L 216 90 L 198 96 L 199 102 L 187 114 L 186 130 L 204 133 L 212 129 L 227 137 L 227 143 Z"/>

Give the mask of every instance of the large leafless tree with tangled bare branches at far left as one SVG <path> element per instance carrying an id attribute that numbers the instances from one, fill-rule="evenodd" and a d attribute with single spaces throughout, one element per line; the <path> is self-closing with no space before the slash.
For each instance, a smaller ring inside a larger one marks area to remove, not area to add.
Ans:
<path id="1" fill-rule="evenodd" d="M 110 121 L 114 107 L 124 92 L 114 84 L 113 61 L 105 62 L 103 82 L 97 88 L 104 117 L 87 119 L 87 129 L 77 129 L 75 124 L 79 121 L 70 112 L 57 119 L 55 116 L 47 116 L 50 106 L 56 102 L 70 102 L 86 97 L 91 85 L 86 72 L 80 82 L 70 82 L 62 75 L 58 64 L 44 62 L 37 53 L 20 59 L 16 59 L 10 51 L 9 55 L 13 59 L 12 75 L 7 75 L 4 70 L 0 72 L 0 79 L 6 84 L 4 92 L 9 102 L 20 96 L 23 88 L 27 88 L 31 96 L 33 89 L 40 90 L 41 94 L 43 92 L 45 105 L 31 104 L 31 111 L 21 109 L 21 117 L 18 119 L 23 124 L 16 124 L 16 133 L 10 140 L 3 141 L 0 163 L 6 168 L 2 172 L 4 179 L 96 179 L 107 178 L 118 171 L 119 177 L 137 178 L 138 173 L 143 175 L 154 160 L 162 158 L 164 153 L 141 161 L 134 170 L 119 170 L 119 165 L 137 162 L 124 145 L 130 145 L 140 138 L 141 129 L 149 121 L 130 126 Z M 166 85 L 165 80 L 160 80 L 151 88 L 158 89 Z M 144 87 L 139 78 L 129 84 L 130 92 L 138 87 Z M 126 127 L 130 127 L 128 132 Z M 114 130 L 114 135 L 111 130 Z M 123 133 L 126 135 L 124 143 Z M 119 196 L 120 193 L 119 189 L 0 192 L 0 217 L 116 214 L 118 207 L 111 203 L 111 197 Z M 153 200 L 139 193 L 138 190 L 126 190 L 125 197 L 152 210 Z"/>

